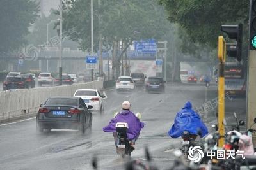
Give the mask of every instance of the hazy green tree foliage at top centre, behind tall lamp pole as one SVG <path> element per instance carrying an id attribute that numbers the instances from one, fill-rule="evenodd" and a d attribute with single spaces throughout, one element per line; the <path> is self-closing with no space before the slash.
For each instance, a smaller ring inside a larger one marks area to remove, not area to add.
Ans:
<path id="1" fill-rule="evenodd" d="M 107 45 L 121 39 L 127 42 L 148 38 L 160 40 L 170 31 L 163 7 L 154 0 L 101 0 L 100 5 L 93 2 L 95 46 L 99 42 L 99 33 Z M 76 27 L 77 34 L 70 35 L 70 39 L 78 41 L 83 50 L 88 50 L 91 38 L 90 0 L 66 1 L 64 9 L 63 29 L 68 31 Z"/>

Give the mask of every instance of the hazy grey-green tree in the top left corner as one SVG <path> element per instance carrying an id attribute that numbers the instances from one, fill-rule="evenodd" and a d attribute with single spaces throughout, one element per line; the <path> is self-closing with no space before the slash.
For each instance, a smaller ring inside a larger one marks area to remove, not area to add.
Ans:
<path id="1" fill-rule="evenodd" d="M 28 27 L 38 17 L 38 4 L 30 0 L 2 0 L 0 6 L 0 53 L 26 43 Z"/>

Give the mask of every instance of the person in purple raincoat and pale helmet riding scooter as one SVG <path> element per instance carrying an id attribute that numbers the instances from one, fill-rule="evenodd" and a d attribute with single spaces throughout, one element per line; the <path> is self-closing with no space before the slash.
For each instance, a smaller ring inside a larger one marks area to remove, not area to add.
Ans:
<path id="1" fill-rule="evenodd" d="M 140 122 L 140 119 L 130 111 L 131 104 L 129 101 L 124 101 L 122 103 L 122 111 L 120 111 L 115 118 L 112 118 L 109 124 L 103 128 L 104 132 L 113 132 L 115 139 L 115 145 L 118 145 L 118 136 L 116 134 L 116 123 L 117 122 L 126 122 L 128 124 L 127 137 L 129 141 L 132 141 L 132 145 L 135 144 L 135 141 L 140 135 L 141 129 L 144 127 L 143 122 Z"/>

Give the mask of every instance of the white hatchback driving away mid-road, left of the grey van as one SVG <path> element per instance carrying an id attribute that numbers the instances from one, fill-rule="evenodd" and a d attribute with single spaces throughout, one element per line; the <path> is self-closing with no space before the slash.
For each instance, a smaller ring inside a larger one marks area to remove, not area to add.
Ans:
<path id="1" fill-rule="evenodd" d="M 116 80 L 116 91 L 134 90 L 134 81 L 130 76 L 120 76 Z"/>

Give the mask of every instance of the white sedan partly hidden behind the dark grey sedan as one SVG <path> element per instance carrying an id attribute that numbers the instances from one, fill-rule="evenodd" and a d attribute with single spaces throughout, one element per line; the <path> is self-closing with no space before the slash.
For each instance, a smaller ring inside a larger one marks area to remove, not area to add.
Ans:
<path id="1" fill-rule="evenodd" d="M 92 106 L 92 111 L 103 113 L 105 109 L 104 99 L 107 98 L 105 92 L 100 94 L 99 90 L 96 89 L 78 89 L 73 96 L 81 97 L 86 106 Z"/>

